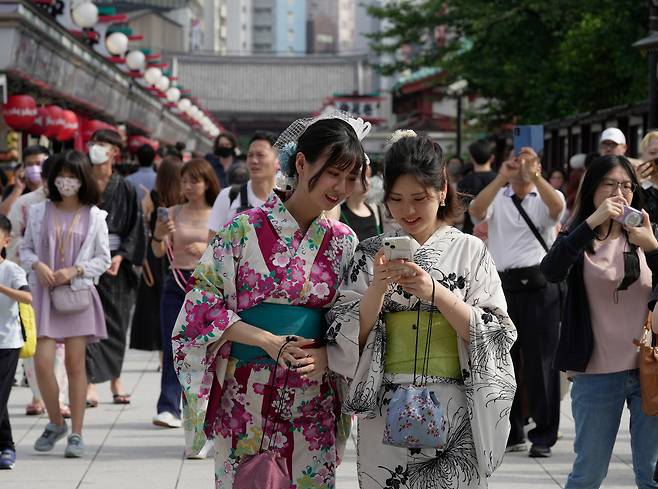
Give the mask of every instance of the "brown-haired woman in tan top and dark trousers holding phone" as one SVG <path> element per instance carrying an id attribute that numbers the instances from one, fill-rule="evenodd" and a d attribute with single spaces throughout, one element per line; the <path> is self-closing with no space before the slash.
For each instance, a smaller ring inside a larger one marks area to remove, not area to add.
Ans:
<path id="1" fill-rule="evenodd" d="M 185 203 L 170 208 L 158 207 L 151 250 L 156 258 L 167 255 L 170 271 L 160 301 L 162 338 L 162 376 L 157 414 L 153 424 L 179 428 L 181 422 L 181 385 L 174 371 L 171 332 L 185 301 L 185 286 L 197 262 L 208 246 L 206 227 L 212 204 L 219 193 L 219 181 L 206 160 L 193 159 L 180 171 Z"/>

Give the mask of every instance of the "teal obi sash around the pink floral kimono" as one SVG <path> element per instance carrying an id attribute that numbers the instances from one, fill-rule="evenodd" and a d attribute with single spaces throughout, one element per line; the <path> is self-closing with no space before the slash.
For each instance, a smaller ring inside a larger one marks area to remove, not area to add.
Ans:
<path id="1" fill-rule="evenodd" d="M 261 302 L 238 315 L 245 323 L 277 336 L 296 335 L 306 339 L 321 339 L 327 330 L 325 312 L 324 309 Z M 242 362 L 274 364 L 274 360 L 262 348 L 235 341 L 231 345 L 231 356 Z"/>

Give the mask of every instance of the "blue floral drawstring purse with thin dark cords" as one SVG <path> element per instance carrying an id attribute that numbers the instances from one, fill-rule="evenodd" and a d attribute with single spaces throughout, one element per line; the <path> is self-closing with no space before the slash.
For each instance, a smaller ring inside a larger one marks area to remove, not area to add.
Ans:
<path id="1" fill-rule="evenodd" d="M 432 280 L 432 298 L 435 283 Z M 434 392 L 427 387 L 430 340 L 434 299 L 427 325 L 427 339 L 420 376 L 416 374 L 418 363 L 418 335 L 420 331 L 420 299 L 416 320 L 416 348 L 414 351 L 414 381 L 401 385 L 393 393 L 388 405 L 384 440 L 386 445 L 403 448 L 443 448 L 446 443 L 446 420 L 443 407 Z"/>

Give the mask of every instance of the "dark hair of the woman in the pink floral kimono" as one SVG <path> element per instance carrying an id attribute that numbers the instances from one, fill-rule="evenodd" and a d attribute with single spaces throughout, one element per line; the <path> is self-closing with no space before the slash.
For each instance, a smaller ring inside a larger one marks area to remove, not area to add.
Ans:
<path id="1" fill-rule="evenodd" d="M 366 154 L 352 126 L 341 119 L 320 119 L 306 128 L 297 140 L 297 151 L 290 156 L 290 161 L 280 162 L 284 167 L 287 165 L 289 177 L 297 176 L 295 161 L 298 153 L 302 153 L 311 164 L 325 155 L 327 157 L 322 168 L 309 180 L 309 190 L 329 167 L 339 170 L 351 168 L 353 174 L 361 176 L 361 182 L 366 186 Z"/>

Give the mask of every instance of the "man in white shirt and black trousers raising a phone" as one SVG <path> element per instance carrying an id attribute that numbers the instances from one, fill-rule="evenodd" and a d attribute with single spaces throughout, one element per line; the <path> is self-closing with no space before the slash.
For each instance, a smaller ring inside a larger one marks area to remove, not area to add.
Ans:
<path id="1" fill-rule="evenodd" d="M 489 224 L 489 250 L 500 274 L 519 340 L 512 349 L 519 390 L 512 406 L 507 450 L 525 451 L 524 389 L 535 421 L 529 456 L 550 457 L 560 422 L 559 372 L 553 356 L 559 336 L 560 289 L 539 264 L 556 236 L 564 195 L 542 177 L 539 157 L 525 147 L 511 155 L 498 176 L 473 199 L 474 223 Z"/>

